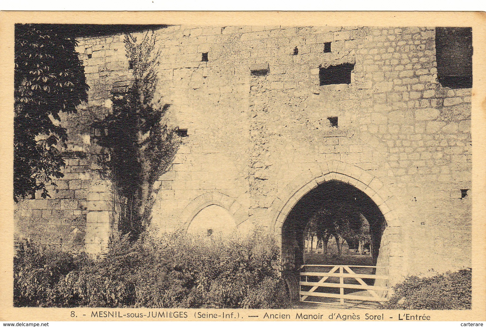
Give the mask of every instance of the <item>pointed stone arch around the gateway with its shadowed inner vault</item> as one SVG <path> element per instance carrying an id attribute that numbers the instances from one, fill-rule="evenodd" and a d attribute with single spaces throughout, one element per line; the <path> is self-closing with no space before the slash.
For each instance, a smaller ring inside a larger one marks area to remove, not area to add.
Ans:
<path id="1" fill-rule="evenodd" d="M 298 285 L 296 272 L 304 263 L 303 228 L 312 207 L 319 207 L 325 201 L 353 202 L 364 214 L 370 226 L 373 265 L 380 267 L 376 269 L 376 275 L 388 276 L 396 272 L 388 268 L 390 256 L 395 257 L 394 265 L 403 266 L 397 261 L 397 258 L 403 258 L 400 246 L 390 243 L 390 240 L 401 242 L 402 238 L 400 223 L 389 206 L 392 197 L 376 176 L 337 160 L 311 167 L 281 189 L 272 204 L 273 221 L 282 250 L 283 273 L 293 296 L 296 297 Z M 393 238 L 388 226 L 393 226 Z M 394 279 L 394 276 L 390 277 Z"/>

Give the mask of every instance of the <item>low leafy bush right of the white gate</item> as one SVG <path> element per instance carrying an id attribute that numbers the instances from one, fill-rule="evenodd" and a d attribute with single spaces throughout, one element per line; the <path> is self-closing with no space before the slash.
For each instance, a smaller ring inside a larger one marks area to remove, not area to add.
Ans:
<path id="1" fill-rule="evenodd" d="M 432 277 L 409 276 L 384 309 L 471 309 L 471 268 Z"/>

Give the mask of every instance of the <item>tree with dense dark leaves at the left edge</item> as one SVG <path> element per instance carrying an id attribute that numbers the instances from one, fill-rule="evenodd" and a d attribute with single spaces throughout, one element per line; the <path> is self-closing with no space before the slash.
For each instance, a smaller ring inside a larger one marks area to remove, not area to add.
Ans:
<path id="1" fill-rule="evenodd" d="M 14 200 L 49 196 L 46 186 L 65 165 L 56 145 L 66 129 L 59 112 L 87 101 L 83 62 L 71 30 L 63 25 L 16 24 Z"/>

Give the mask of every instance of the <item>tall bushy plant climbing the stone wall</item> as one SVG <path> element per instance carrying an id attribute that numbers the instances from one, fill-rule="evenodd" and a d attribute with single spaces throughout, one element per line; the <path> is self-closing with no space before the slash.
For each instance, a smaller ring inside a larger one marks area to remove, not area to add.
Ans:
<path id="1" fill-rule="evenodd" d="M 97 143 L 107 149 L 99 161 L 122 199 L 119 231 L 137 236 L 150 223 L 152 185 L 172 162 L 179 139 L 165 117 L 169 105 L 154 99 L 159 57 L 154 33 L 140 42 L 125 34 L 124 42 L 133 83 L 113 94 L 113 113 L 97 125 L 104 130 Z"/>

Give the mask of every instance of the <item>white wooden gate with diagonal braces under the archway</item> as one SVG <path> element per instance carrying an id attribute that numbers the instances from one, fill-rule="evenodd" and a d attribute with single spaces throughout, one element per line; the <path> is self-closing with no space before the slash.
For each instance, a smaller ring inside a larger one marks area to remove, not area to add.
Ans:
<path id="1" fill-rule="evenodd" d="M 386 294 L 385 292 L 388 291 L 388 288 L 368 285 L 363 279 L 374 279 L 376 281 L 377 279 L 388 279 L 388 276 L 355 273 L 358 270 L 364 270 L 365 272 L 369 272 L 370 270 L 375 271 L 376 268 L 386 267 L 303 265 L 301 266 L 299 282 L 300 301 L 334 304 L 326 301 L 328 298 L 334 298 L 339 299 L 339 303 L 336 304 L 352 307 L 359 306 L 361 304 L 360 302 L 386 302 L 388 299 L 383 295 L 380 296 L 376 291 L 383 291 L 382 293 Z M 325 272 L 320 270 L 329 271 Z M 336 283 L 337 278 L 339 278 L 339 283 Z M 337 290 L 339 290 L 339 293 L 337 293 Z M 368 293 L 370 296 L 364 296 L 362 293 Z"/>

